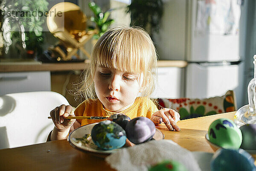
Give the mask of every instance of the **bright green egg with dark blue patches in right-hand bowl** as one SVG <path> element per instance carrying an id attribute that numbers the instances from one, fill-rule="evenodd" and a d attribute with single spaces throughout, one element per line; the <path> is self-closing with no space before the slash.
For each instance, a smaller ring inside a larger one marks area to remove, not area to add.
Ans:
<path id="1" fill-rule="evenodd" d="M 210 141 L 222 148 L 238 149 L 242 143 L 241 130 L 230 119 L 221 118 L 213 121 L 208 134 Z"/>

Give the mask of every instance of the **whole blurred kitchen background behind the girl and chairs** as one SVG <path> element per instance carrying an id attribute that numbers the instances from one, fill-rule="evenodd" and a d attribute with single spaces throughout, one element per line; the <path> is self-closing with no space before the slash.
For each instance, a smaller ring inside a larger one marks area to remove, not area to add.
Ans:
<path id="1" fill-rule="evenodd" d="M 43 15 L 22 16 L 32 11 Z M 44 12 L 55 12 L 60 25 Z M 83 99 L 71 90 L 95 41 L 108 28 L 132 25 L 142 26 L 157 48 L 153 98 L 203 99 L 234 90 L 237 108 L 248 104 L 255 0 L 2 0 L 0 17 L 0 95 L 51 90 L 76 107 Z"/>

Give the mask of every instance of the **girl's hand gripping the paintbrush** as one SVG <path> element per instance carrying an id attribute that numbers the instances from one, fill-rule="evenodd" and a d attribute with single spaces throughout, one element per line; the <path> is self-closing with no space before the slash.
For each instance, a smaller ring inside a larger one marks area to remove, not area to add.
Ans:
<path id="1" fill-rule="evenodd" d="M 73 107 L 70 105 L 66 106 L 65 104 L 53 109 L 50 112 L 50 116 L 58 131 L 70 130 L 70 127 L 76 121 L 76 119 L 64 119 L 67 116 L 75 116 L 73 113 Z"/>

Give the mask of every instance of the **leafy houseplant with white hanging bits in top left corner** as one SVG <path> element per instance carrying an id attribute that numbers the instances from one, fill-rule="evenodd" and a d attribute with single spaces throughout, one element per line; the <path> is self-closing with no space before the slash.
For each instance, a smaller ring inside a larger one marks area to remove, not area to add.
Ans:
<path id="1" fill-rule="evenodd" d="M 3 0 L 1 30 L 5 58 L 33 58 L 42 52 L 47 0 Z"/>

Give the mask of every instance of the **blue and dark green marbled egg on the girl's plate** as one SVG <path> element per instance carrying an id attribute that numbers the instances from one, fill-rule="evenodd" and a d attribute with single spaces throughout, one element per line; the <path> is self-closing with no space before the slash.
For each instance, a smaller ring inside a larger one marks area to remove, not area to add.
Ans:
<path id="1" fill-rule="evenodd" d="M 104 150 L 121 148 L 126 142 L 125 130 L 116 122 L 105 120 L 96 124 L 91 132 L 95 145 Z"/>

